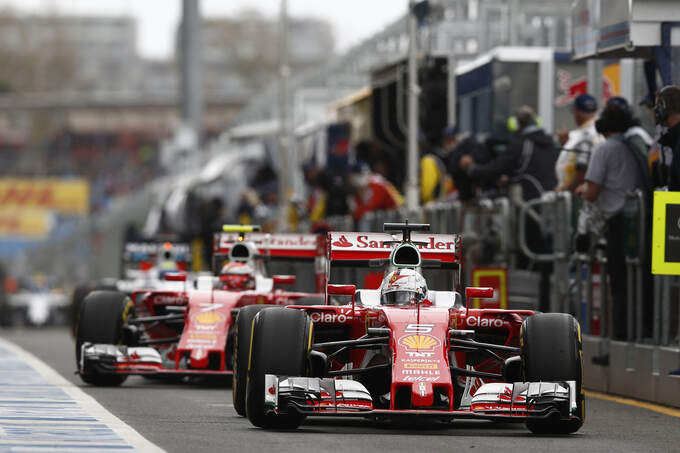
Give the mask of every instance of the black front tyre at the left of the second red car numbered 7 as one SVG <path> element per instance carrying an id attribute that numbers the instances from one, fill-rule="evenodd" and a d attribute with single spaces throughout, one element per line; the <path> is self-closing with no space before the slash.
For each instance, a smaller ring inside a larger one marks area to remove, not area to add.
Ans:
<path id="1" fill-rule="evenodd" d="M 80 369 L 83 343 L 122 343 L 123 325 L 133 310 L 134 305 L 130 298 L 116 291 L 93 291 L 85 297 L 76 325 L 76 366 L 78 369 Z M 93 370 L 85 370 L 80 378 L 87 384 L 116 386 L 122 384 L 127 376 L 100 374 Z"/>

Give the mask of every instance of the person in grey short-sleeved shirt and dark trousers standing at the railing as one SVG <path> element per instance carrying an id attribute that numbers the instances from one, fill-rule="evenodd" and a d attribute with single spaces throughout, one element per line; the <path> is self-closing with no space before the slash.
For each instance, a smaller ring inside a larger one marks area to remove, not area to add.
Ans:
<path id="1" fill-rule="evenodd" d="M 626 339 L 626 260 L 623 244 L 625 231 L 623 210 L 626 195 L 636 189 L 648 190 L 649 174 L 646 152 L 624 133 L 631 127 L 633 117 L 630 111 L 617 103 L 608 103 L 595 122 L 595 127 L 605 138 L 598 145 L 588 165 L 585 182 L 576 193 L 594 205 L 594 210 L 606 225 L 607 273 L 612 294 L 611 337 Z"/>

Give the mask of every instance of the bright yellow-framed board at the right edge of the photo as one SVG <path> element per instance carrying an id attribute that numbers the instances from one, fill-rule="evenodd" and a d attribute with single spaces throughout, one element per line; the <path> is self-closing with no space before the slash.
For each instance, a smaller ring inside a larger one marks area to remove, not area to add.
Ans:
<path id="1" fill-rule="evenodd" d="M 680 192 L 654 192 L 652 273 L 680 275 Z"/>

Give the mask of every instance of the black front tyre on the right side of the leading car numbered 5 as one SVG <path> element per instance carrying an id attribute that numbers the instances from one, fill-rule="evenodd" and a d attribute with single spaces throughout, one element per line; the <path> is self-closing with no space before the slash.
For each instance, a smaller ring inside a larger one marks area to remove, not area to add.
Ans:
<path id="1" fill-rule="evenodd" d="M 566 313 L 540 313 L 522 324 L 522 374 L 525 382 L 576 381 L 578 418 L 527 421 L 535 434 L 571 434 L 585 421 L 581 328 Z"/>

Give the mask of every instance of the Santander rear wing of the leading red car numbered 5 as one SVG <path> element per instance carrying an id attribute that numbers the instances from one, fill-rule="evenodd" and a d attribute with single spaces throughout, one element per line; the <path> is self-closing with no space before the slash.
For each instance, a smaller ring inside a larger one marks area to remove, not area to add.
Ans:
<path id="1" fill-rule="evenodd" d="M 460 264 L 461 237 L 457 234 L 411 233 L 423 260 Z M 328 233 L 327 257 L 330 262 L 352 261 L 366 265 L 371 260 L 389 258 L 392 248 L 402 242 L 402 233 L 357 233 L 332 231 Z"/>

